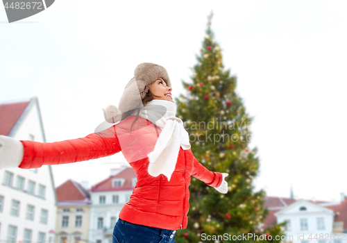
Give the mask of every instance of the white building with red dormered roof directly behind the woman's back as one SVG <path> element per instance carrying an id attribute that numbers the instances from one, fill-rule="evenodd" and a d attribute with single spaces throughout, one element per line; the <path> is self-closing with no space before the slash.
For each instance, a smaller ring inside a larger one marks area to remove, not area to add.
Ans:
<path id="1" fill-rule="evenodd" d="M 89 241 L 112 243 L 112 233 L 121 208 L 130 199 L 136 184 L 136 174 L 131 167 L 112 170 L 111 176 L 92 187 L 90 192 Z"/>

